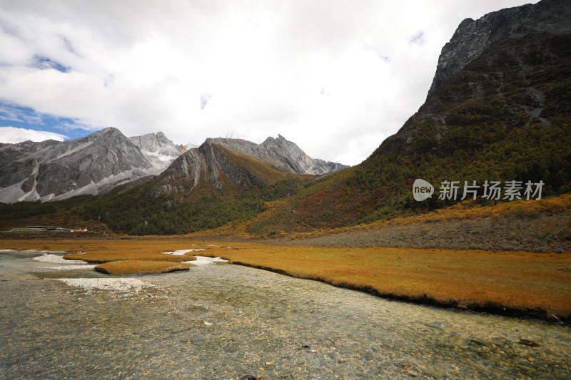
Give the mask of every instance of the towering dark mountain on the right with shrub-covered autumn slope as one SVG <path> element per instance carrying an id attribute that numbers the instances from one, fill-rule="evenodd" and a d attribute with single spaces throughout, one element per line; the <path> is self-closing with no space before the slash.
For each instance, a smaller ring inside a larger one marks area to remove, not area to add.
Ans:
<path id="1" fill-rule="evenodd" d="M 439 199 L 437 189 L 416 202 L 416 178 L 437 188 L 443 180 L 542 181 L 544 197 L 571 192 L 569 0 L 464 20 L 440 54 L 425 103 L 398 133 L 250 228 L 341 227 L 456 201 Z"/>

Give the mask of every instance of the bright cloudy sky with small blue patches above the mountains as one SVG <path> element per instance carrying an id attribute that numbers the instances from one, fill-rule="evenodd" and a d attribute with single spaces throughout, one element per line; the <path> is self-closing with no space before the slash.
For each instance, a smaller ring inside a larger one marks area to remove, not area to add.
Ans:
<path id="1" fill-rule="evenodd" d="M 529 2 L 0 0 L 0 143 L 279 133 L 355 165 L 424 103 L 463 19 Z"/>

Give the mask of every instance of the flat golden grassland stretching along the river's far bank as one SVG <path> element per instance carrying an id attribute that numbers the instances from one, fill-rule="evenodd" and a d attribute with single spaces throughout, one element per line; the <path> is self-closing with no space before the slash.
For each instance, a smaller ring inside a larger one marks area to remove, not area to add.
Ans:
<path id="1" fill-rule="evenodd" d="M 218 245 L 216 247 L 215 245 Z M 228 249 L 231 245 L 234 249 Z M 571 319 L 571 253 L 491 252 L 388 247 L 315 247 L 181 238 L 0 240 L 1 249 L 86 251 L 146 260 L 166 250 L 205 248 L 235 264 L 318 279 L 383 297 Z M 87 254 L 79 255 L 84 260 Z M 189 257 L 164 255 L 175 260 Z"/>

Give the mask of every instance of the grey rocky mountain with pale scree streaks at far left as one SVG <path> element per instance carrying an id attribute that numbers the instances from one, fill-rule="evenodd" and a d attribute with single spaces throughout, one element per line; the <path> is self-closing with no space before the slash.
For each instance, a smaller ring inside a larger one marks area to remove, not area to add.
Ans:
<path id="1" fill-rule="evenodd" d="M 71 141 L 6 144 L 0 147 L 0 202 L 98 194 L 152 170 L 116 128 Z"/>

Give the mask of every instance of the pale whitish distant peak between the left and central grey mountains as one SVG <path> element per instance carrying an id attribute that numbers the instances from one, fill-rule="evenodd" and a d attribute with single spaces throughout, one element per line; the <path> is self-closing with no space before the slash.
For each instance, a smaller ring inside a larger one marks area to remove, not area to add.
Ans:
<path id="1" fill-rule="evenodd" d="M 183 153 L 180 147 L 168 140 L 162 132 L 133 136 L 129 140 L 141 149 L 141 153 L 156 169 L 156 174 L 168 168 L 168 165 Z"/>

